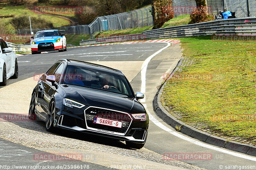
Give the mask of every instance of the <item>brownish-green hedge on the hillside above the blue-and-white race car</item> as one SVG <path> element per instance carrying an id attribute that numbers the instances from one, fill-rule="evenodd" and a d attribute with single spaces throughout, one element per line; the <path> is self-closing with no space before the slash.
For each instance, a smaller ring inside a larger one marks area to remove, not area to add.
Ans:
<path id="1" fill-rule="evenodd" d="M 46 21 L 44 18 L 30 17 L 32 28 L 52 28 L 53 24 L 50 21 Z M 12 18 L 10 21 L 15 29 L 29 29 L 29 18 L 26 15 Z"/>

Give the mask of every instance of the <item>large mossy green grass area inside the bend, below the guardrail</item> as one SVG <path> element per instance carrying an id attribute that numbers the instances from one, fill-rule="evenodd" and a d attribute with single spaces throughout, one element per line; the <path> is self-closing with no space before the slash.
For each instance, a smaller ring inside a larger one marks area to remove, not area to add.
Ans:
<path id="1" fill-rule="evenodd" d="M 180 112 L 183 122 L 204 123 L 212 133 L 256 144 L 255 41 L 213 41 L 210 36 L 180 41 L 183 56 L 194 64 L 167 81 L 163 106 Z"/>

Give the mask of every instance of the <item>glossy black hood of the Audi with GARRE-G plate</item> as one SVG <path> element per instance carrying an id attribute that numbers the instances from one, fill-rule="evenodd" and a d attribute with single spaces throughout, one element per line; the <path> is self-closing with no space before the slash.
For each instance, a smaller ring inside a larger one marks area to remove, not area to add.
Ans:
<path id="1" fill-rule="evenodd" d="M 61 85 L 61 88 L 68 94 L 68 99 L 86 106 L 108 108 L 125 113 L 145 112 L 140 102 L 134 98 L 127 98 L 122 94 L 74 85 Z"/>

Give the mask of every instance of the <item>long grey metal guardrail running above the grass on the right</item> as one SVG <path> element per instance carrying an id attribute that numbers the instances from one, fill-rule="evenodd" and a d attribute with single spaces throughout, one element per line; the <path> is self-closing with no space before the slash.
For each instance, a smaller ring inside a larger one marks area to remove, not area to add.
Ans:
<path id="1" fill-rule="evenodd" d="M 233 18 L 144 31 L 141 34 L 80 41 L 80 45 L 106 42 L 189 37 L 199 35 L 256 35 L 256 17 Z M 134 36 L 137 35 L 137 36 Z M 140 39 L 138 39 L 140 38 Z"/>

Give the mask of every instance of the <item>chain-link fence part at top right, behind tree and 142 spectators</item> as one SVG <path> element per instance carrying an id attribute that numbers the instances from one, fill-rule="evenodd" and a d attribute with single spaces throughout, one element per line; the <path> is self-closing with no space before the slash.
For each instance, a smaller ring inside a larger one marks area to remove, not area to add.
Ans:
<path id="1" fill-rule="evenodd" d="M 219 11 L 227 8 L 229 11 L 236 12 L 237 18 L 256 16 L 256 0 L 207 0 L 207 6 L 208 12 L 212 15 L 218 15 Z M 172 8 L 175 17 L 190 14 L 196 8 L 196 1 L 172 0 Z"/>

